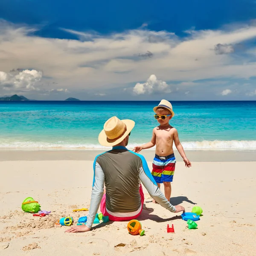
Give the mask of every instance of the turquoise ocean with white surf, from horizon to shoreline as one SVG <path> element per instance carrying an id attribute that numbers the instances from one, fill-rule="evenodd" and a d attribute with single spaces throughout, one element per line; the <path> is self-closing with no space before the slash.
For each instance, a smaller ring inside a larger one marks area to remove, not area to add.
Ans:
<path id="1" fill-rule="evenodd" d="M 0 149 L 101 149 L 98 134 L 111 116 L 133 119 L 129 148 L 151 140 L 157 102 L 0 102 Z M 256 101 L 172 101 L 186 150 L 256 150 Z"/>

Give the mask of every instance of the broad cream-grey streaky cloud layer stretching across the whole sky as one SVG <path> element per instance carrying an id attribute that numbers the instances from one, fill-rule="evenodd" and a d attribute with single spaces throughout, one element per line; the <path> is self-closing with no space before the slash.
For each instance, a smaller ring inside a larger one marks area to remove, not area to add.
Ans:
<path id="1" fill-rule="evenodd" d="M 214 51 L 215 46 L 221 44 L 218 46 L 219 53 L 232 52 L 233 45 L 256 38 L 255 26 L 234 27 L 228 31 L 191 30 L 183 38 L 171 32 L 150 31 L 146 26 L 111 35 L 66 29 L 81 40 L 31 36 L 35 30 L 0 23 L 2 85 L 2 80 L 12 77 L 9 70 L 28 67 L 33 67 L 35 71 L 42 70 L 44 77 L 48 77 L 40 79 L 42 91 L 49 91 L 52 88 L 49 82 L 53 81 L 61 88 L 73 91 L 108 90 L 145 81 L 150 74 L 163 81 L 183 81 L 183 84 L 177 84 L 180 87 L 201 86 L 200 83 L 191 82 L 201 79 L 248 79 L 255 76 L 256 62 L 250 62 L 251 58 L 237 53 L 234 59 L 229 54 L 220 55 Z M 246 49 L 248 54 L 253 55 L 250 50 Z M 147 51 L 153 53 L 151 58 L 136 56 Z M 34 75 L 23 73 L 15 86 L 30 91 L 39 88 L 38 82 L 35 82 L 39 78 Z M 34 76 L 34 80 L 28 81 L 29 76 Z M 135 93 L 150 93 L 149 83 L 136 84 Z M 8 84 L 4 87 L 5 90 L 10 89 Z"/>

